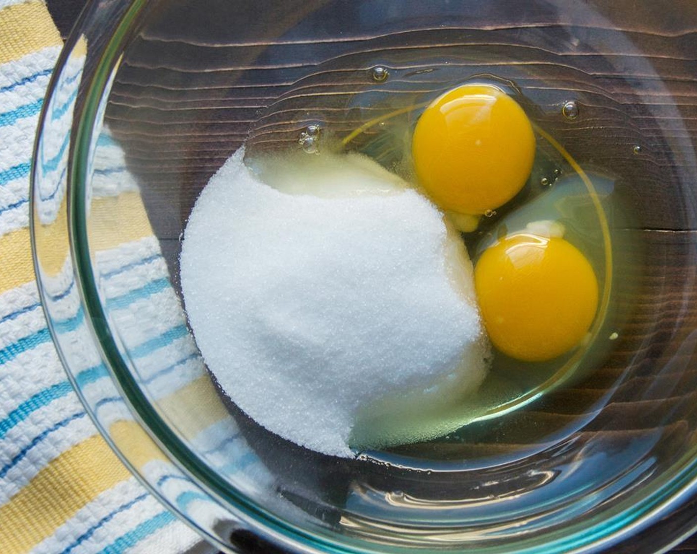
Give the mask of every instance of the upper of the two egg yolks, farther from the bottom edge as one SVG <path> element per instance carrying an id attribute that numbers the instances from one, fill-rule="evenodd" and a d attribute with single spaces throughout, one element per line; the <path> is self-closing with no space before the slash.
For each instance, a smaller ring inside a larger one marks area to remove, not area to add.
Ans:
<path id="1" fill-rule="evenodd" d="M 512 199 L 533 169 L 535 134 L 495 86 L 466 84 L 434 100 L 412 139 L 416 176 L 438 206 L 481 215 Z"/>

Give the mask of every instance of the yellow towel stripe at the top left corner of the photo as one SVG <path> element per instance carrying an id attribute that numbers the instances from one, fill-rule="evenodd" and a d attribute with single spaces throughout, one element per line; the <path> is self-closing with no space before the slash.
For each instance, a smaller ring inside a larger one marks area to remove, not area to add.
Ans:
<path id="1" fill-rule="evenodd" d="M 43 2 L 13 4 L 0 10 L 0 63 L 48 46 L 63 45 Z"/>

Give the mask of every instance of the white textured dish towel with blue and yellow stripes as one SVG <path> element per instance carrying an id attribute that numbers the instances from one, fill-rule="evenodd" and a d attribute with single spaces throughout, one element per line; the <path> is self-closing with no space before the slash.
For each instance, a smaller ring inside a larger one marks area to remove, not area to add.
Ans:
<path id="1" fill-rule="evenodd" d="M 43 3 L 0 0 L 0 553 L 214 552 L 141 487 L 98 435 L 66 380 L 40 308 L 27 228 L 30 155 L 60 48 L 61 38 Z M 119 164 L 123 171 L 120 148 L 107 134 L 102 137 L 102 151 L 111 155 L 94 160 L 92 209 L 100 209 L 100 204 L 109 209 L 114 202 L 131 209 L 138 199 L 128 180 L 119 190 L 109 190 L 108 183 L 100 187 L 100 174 L 109 174 Z M 62 193 L 51 193 L 56 209 L 40 217 L 56 217 Z M 144 287 L 148 294 L 159 295 L 158 302 L 167 297 L 165 302 L 176 304 L 147 224 L 130 245 L 105 245 L 98 254 L 104 293 L 116 316 L 130 317 L 128 307 L 134 302 L 144 309 Z M 66 282 L 63 298 L 56 298 L 65 302 L 67 330 L 82 314 L 71 305 L 77 298 L 71 291 L 72 282 Z M 178 377 L 168 380 L 163 394 L 192 387 L 203 375 L 185 328 L 176 327 L 181 336 L 170 333 L 167 364 L 169 371 L 178 370 Z M 152 341 L 144 344 L 149 345 L 141 348 L 144 357 L 158 347 Z M 166 370 L 153 365 L 148 378 L 156 380 Z M 99 364 L 86 367 L 79 378 L 86 395 L 109 389 L 104 385 L 109 378 Z M 100 401 L 113 404 L 120 399 Z M 112 424 L 135 426 L 125 406 L 123 411 Z M 222 437 L 233 432 L 229 417 L 221 414 L 218 419 L 210 429 L 197 430 L 203 446 L 224 441 Z M 129 436 L 137 437 L 133 432 L 130 429 Z M 226 457 L 224 449 L 220 455 Z M 204 500 L 187 495 L 185 479 L 174 475 L 169 463 L 144 456 L 139 470 L 153 474 L 163 488 L 181 487 L 177 502 L 181 498 L 182 509 L 196 509 L 196 502 Z"/>

